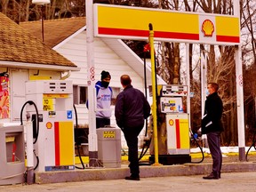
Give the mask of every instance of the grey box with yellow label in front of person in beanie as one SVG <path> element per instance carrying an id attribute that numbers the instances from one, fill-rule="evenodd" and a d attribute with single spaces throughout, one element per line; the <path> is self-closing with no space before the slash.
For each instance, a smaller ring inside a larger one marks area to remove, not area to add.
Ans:
<path id="1" fill-rule="evenodd" d="M 106 168 L 121 167 L 121 130 L 119 128 L 99 128 L 98 158 Z"/>

